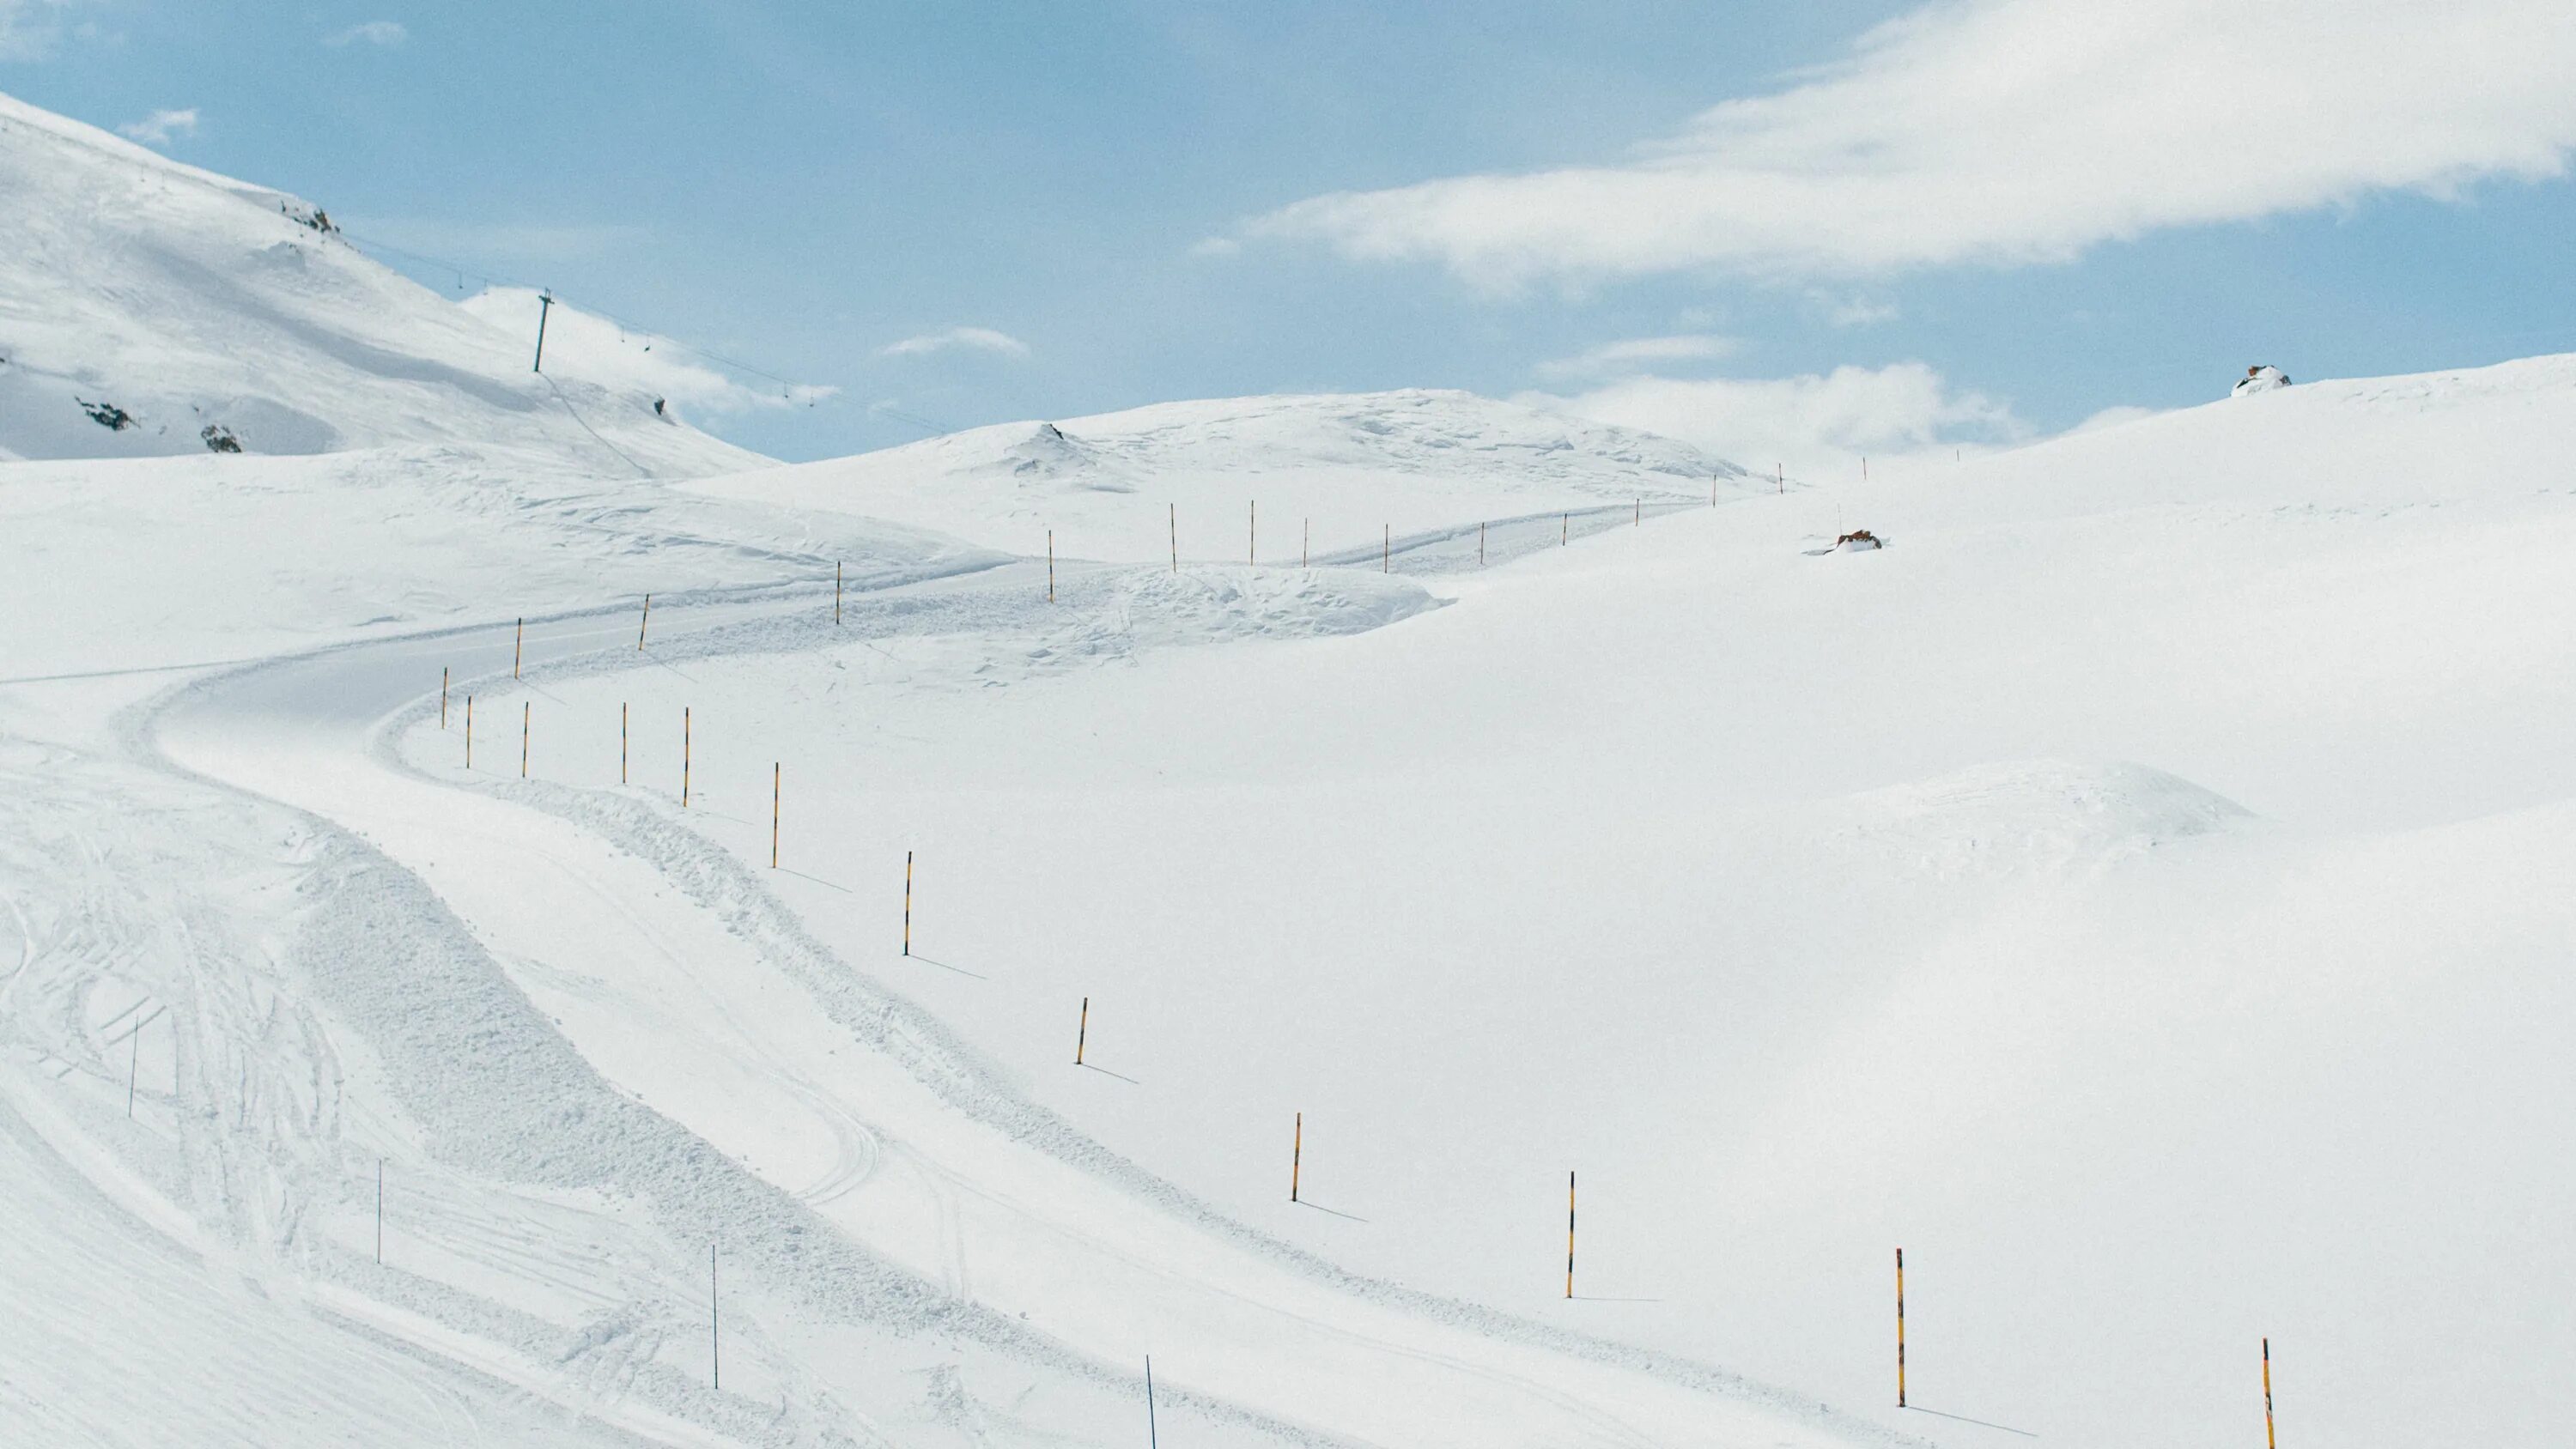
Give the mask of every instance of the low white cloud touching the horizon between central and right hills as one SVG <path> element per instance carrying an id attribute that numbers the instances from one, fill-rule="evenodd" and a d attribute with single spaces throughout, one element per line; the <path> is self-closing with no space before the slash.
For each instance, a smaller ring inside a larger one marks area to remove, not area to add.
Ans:
<path id="1" fill-rule="evenodd" d="M 2002 401 L 1955 391 L 1924 363 L 1834 368 L 1795 378 L 1620 378 L 1577 396 L 1530 394 L 1600 422 L 1695 443 L 1757 474 L 1844 479 L 1857 458 L 1991 448 L 2030 438 Z"/>

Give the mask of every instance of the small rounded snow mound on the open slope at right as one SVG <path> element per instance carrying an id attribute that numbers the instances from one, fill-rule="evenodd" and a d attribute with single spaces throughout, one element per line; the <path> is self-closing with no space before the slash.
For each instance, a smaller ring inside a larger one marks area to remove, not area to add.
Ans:
<path id="1" fill-rule="evenodd" d="M 1953 880 L 2099 870 L 2251 818 L 2146 764 L 2030 759 L 1847 795 L 1826 808 L 1824 836 Z"/>

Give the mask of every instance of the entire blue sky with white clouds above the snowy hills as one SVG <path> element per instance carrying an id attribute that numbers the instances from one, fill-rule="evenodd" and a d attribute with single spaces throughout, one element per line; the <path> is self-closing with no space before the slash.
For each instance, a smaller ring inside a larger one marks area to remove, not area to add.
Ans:
<path id="1" fill-rule="evenodd" d="M 0 90 L 840 389 L 714 420 L 788 458 L 1461 386 L 1821 468 L 2576 347 L 2576 8 L 2262 10 L 0 0 Z"/>

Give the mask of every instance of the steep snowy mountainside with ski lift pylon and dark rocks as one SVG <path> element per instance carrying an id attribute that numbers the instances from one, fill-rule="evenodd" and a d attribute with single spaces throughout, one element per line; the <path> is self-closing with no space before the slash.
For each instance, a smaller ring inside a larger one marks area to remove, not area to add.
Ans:
<path id="1" fill-rule="evenodd" d="M 513 450 L 613 476 L 755 453 L 358 255 L 322 211 L 0 95 L 0 458 Z"/>

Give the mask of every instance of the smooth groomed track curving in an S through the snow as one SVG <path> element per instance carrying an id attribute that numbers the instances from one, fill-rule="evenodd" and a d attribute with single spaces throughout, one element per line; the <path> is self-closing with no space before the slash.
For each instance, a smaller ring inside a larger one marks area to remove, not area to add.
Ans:
<path id="1" fill-rule="evenodd" d="M 1025 579 L 938 579 L 876 597 L 971 613 L 979 592 L 999 587 L 1025 589 Z M 654 641 L 716 651 L 732 625 L 817 607 L 775 592 L 659 605 Z M 536 620 L 528 669 L 623 667 L 629 638 L 626 615 Z M 675 1163 L 659 1145 L 618 1161 L 616 1171 L 634 1174 L 618 1184 L 629 1192 L 701 1194 L 690 1202 L 732 1223 L 726 1248 L 750 1253 L 755 1274 L 796 1282 L 809 1302 L 976 1336 L 1097 1382 L 1121 1382 L 1157 1354 L 1159 1392 L 1293 1441 L 1821 1449 L 1883 1439 L 1716 1369 L 1370 1284 L 1218 1220 L 1012 1096 L 848 963 L 819 963 L 845 981 L 799 963 L 796 947 L 824 957 L 829 947 L 788 939 L 801 932 L 791 914 L 729 857 L 711 865 L 721 852 L 685 826 L 657 821 L 626 793 L 523 785 L 518 721 L 495 710 L 477 721 L 471 775 L 402 764 L 394 734 L 435 710 L 435 687 L 425 695 L 422 685 L 440 664 L 469 659 L 489 669 L 484 679 L 507 682 L 510 649 L 502 623 L 471 646 L 446 631 L 283 659 L 175 695 L 149 739 L 180 770 L 307 811 L 381 852 L 618 1096 L 827 1225 L 853 1251 L 842 1271 L 855 1287 L 835 1300 L 811 1282 L 835 1269 L 804 1241 L 737 1248 L 737 1230 L 796 1235 L 801 1225 L 773 1207 L 750 1223 L 726 1217 L 742 1212 L 726 1204 L 768 1199 L 708 1186 L 721 1168 Z M 456 692 L 469 687 L 461 679 Z M 592 829 L 618 821 L 629 829 Z M 474 1071 L 515 1066 L 500 1053 Z M 549 1109 L 544 1076 L 487 1086 L 528 1114 Z M 489 1130 L 505 1138 L 515 1125 Z"/>

